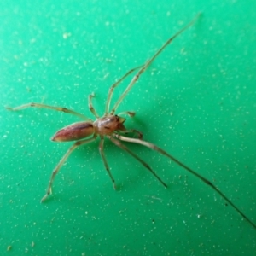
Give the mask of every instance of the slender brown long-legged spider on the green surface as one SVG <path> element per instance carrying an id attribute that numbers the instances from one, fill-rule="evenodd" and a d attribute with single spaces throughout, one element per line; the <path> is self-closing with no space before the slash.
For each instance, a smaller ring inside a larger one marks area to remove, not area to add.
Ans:
<path id="1" fill-rule="evenodd" d="M 203 183 L 206 183 L 208 186 L 210 186 L 212 189 L 214 189 L 215 192 L 217 192 L 218 195 L 220 195 L 224 199 L 224 201 L 227 201 L 232 207 L 234 207 L 236 212 L 241 214 L 241 216 L 243 218 L 245 218 L 247 220 L 247 222 L 253 226 L 254 229 L 256 229 L 256 224 L 253 224 L 253 222 L 249 218 L 247 218 L 247 216 L 243 212 L 241 212 L 241 210 L 238 207 L 236 207 L 236 205 L 232 201 L 230 201 L 230 199 L 226 195 L 224 195 L 223 192 L 221 192 L 212 182 L 207 180 L 207 178 L 205 178 L 205 177 L 201 176 L 201 174 L 193 171 L 191 168 L 189 168 L 189 166 L 185 166 L 181 161 L 174 158 L 171 154 L 168 154 L 165 150 L 157 147 L 153 143 L 144 141 L 143 134 L 140 131 L 133 130 L 133 129 L 126 129 L 125 125 L 124 125 L 125 118 L 121 117 L 121 115 L 126 114 L 130 117 L 133 117 L 135 115 L 134 112 L 126 111 L 126 112 L 122 112 L 119 114 L 115 114 L 117 108 L 119 107 L 119 104 L 124 100 L 125 96 L 131 90 L 132 86 L 137 82 L 137 79 L 139 79 L 141 74 L 144 73 L 145 70 L 148 68 L 148 66 L 154 61 L 154 59 L 158 55 L 160 55 L 162 50 L 165 49 L 168 44 L 171 44 L 174 38 L 177 38 L 178 35 L 180 35 L 182 32 L 184 32 L 186 29 L 188 29 L 189 26 L 192 26 L 195 23 L 195 20 L 197 20 L 200 15 L 201 14 L 196 15 L 195 18 L 189 22 L 189 24 L 187 24 L 181 30 L 179 30 L 176 34 L 174 34 L 174 36 L 172 36 L 172 38 L 169 38 L 166 41 L 166 43 L 163 44 L 163 46 L 160 49 L 158 49 L 156 51 L 156 53 L 148 61 L 146 61 L 142 66 L 135 67 L 135 68 L 131 69 L 130 71 L 125 73 L 125 75 L 121 79 L 119 79 L 117 82 L 115 82 L 110 87 L 110 89 L 108 91 L 108 98 L 106 101 L 105 113 L 103 114 L 102 117 L 100 117 L 98 115 L 98 113 L 96 112 L 96 109 L 92 105 L 92 98 L 94 97 L 94 95 L 91 94 L 90 96 L 88 96 L 88 105 L 90 108 L 90 112 L 96 117 L 96 121 L 93 121 L 93 120 L 87 118 L 86 116 L 84 116 L 84 114 L 77 113 L 71 109 L 61 108 L 61 107 L 53 107 L 53 106 L 49 106 L 49 105 L 45 105 L 45 104 L 41 104 L 41 103 L 31 102 L 31 103 L 27 103 L 27 104 L 21 105 L 16 108 L 6 107 L 7 109 L 12 110 L 12 111 L 20 110 L 23 108 L 30 108 L 30 107 L 49 108 L 49 109 L 52 109 L 55 111 L 70 113 L 70 114 L 73 114 L 73 115 L 79 117 L 80 119 L 83 119 L 83 121 L 81 121 L 81 122 L 77 122 L 72 125 L 67 125 L 66 127 L 62 128 L 60 131 L 57 131 L 55 133 L 55 135 L 53 137 L 51 137 L 51 140 L 54 142 L 60 142 L 60 143 L 69 142 L 69 141 L 76 141 L 76 142 L 73 143 L 73 145 L 67 150 L 67 153 L 64 154 L 64 156 L 61 158 L 58 165 L 55 166 L 55 169 L 52 172 L 52 175 L 49 180 L 49 185 L 46 190 L 46 194 L 42 198 L 41 202 L 45 201 L 46 198 L 48 197 L 48 195 L 50 195 L 52 193 L 52 185 L 53 185 L 53 182 L 55 179 L 55 175 L 60 171 L 61 166 L 64 164 L 64 162 L 67 160 L 69 155 L 73 152 L 73 150 L 75 148 L 78 148 L 81 145 L 95 141 L 97 137 L 100 137 L 99 151 L 100 151 L 100 154 L 101 154 L 101 157 L 103 160 L 103 164 L 105 166 L 106 171 L 108 172 L 108 176 L 110 177 L 110 179 L 113 183 L 113 189 L 116 189 L 114 178 L 112 176 L 112 173 L 110 172 L 108 162 L 106 160 L 106 157 L 105 157 L 105 154 L 103 151 L 104 138 L 107 137 L 117 147 L 125 150 L 128 154 L 131 154 L 131 156 L 134 157 L 136 160 L 138 160 L 144 167 L 146 167 L 148 169 L 148 171 L 151 172 L 154 175 L 154 177 L 156 177 L 164 187 L 167 187 L 166 183 L 164 183 L 162 181 L 162 179 L 156 174 L 156 172 L 154 172 L 153 169 L 150 166 L 148 166 L 148 164 L 143 159 L 141 159 L 139 156 L 137 156 L 137 154 L 134 154 L 122 142 L 141 144 L 147 148 L 157 151 L 160 154 L 165 155 L 167 158 L 174 161 L 178 166 L 183 167 L 183 169 L 190 172 L 195 177 L 201 179 L 201 181 Z M 129 76 L 131 73 L 135 72 L 136 70 L 138 70 L 138 71 L 137 71 L 136 75 L 131 79 L 130 84 L 128 84 L 125 91 L 121 94 L 121 96 L 119 96 L 119 99 L 117 102 L 115 102 L 115 104 L 113 105 L 113 108 L 111 110 L 109 110 L 110 102 L 111 102 L 111 99 L 113 96 L 113 90 L 127 76 Z M 128 133 L 136 135 L 137 137 L 127 137 L 126 135 Z"/>

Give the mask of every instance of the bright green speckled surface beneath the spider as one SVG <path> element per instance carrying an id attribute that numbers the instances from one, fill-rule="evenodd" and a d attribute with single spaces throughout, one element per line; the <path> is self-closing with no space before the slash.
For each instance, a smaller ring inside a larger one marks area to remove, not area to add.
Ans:
<path id="1" fill-rule="evenodd" d="M 107 2 L 0 3 L 0 255 L 255 255 L 256 230 L 219 195 L 136 145 L 168 189 L 106 143 L 114 191 L 92 143 L 71 155 L 40 204 L 71 144 L 49 137 L 78 119 L 3 107 L 44 102 L 91 117 L 95 92 L 103 113 L 109 86 L 202 11 L 119 111 L 137 111 L 127 127 L 209 178 L 256 223 L 255 1 Z"/>

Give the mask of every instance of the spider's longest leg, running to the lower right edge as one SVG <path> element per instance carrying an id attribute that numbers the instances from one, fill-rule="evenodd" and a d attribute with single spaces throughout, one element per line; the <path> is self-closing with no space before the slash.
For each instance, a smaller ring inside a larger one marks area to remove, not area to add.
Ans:
<path id="1" fill-rule="evenodd" d="M 190 169 L 188 166 L 185 166 L 182 162 L 180 162 L 179 160 L 174 158 L 171 154 L 168 154 L 165 150 L 157 147 L 153 143 L 148 143 L 148 142 L 145 142 L 145 141 L 137 139 L 137 138 L 124 137 L 124 136 L 121 136 L 119 134 L 113 134 L 113 136 L 118 138 L 121 141 L 125 141 L 125 142 L 128 142 L 128 143 L 141 144 L 145 147 L 151 148 L 151 149 L 159 152 L 160 154 L 166 155 L 166 157 L 173 160 L 178 166 L 183 167 L 185 170 L 192 173 L 195 177 L 200 178 L 202 182 L 206 183 L 208 186 L 210 186 L 212 189 L 214 189 L 218 193 L 218 195 L 220 195 L 225 201 L 227 201 L 230 204 L 230 206 L 233 207 L 236 210 L 236 212 L 240 213 L 241 216 L 243 218 L 245 218 L 248 223 L 252 224 L 254 229 L 256 229 L 256 224 L 253 224 L 253 222 L 249 218 L 247 218 L 247 216 L 243 212 L 241 212 L 241 210 L 238 207 L 236 207 L 236 205 L 232 201 L 230 201 L 230 199 L 226 195 L 224 195 L 213 183 L 211 183 L 207 178 L 202 177 L 201 174 L 199 174 L 199 173 L 193 171 L 192 169 Z"/>

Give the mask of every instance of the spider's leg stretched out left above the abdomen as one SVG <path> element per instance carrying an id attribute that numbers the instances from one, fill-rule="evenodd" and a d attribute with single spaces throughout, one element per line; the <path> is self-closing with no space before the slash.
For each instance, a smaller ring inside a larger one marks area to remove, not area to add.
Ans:
<path id="1" fill-rule="evenodd" d="M 16 108 L 10 108 L 10 107 L 6 107 L 6 109 L 11 110 L 11 111 L 16 111 L 16 110 L 20 110 L 20 109 L 24 109 L 24 108 L 30 108 L 30 107 L 34 107 L 34 108 L 48 108 L 48 109 L 52 109 L 55 111 L 61 111 L 64 113 L 71 113 L 73 115 L 78 116 L 80 119 L 84 119 L 84 120 L 90 120 L 88 117 L 86 117 L 84 114 L 82 113 L 77 113 L 71 109 L 67 109 L 67 108 L 62 108 L 62 107 L 53 107 L 53 106 L 49 106 L 49 105 L 44 105 L 44 104 L 40 104 L 40 103 L 27 103 L 24 105 L 21 105 L 19 107 Z"/>

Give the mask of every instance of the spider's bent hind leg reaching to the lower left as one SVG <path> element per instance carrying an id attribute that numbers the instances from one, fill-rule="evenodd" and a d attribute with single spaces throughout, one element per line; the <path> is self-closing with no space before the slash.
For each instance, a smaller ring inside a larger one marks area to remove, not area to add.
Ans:
<path id="1" fill-rule="evenodd" d="M 67 160 L 68 156 L 73 152 L 73 150 L 83 144 L 90 143 L 90 142 L 94 141 L 95 139 L 96 139 L 96 135 L 94 137 L 90 137 L 88 139 L 73 143 L 73 145 L 67 150 L 67 153 L 63 155 L 60 162 L 58 163 L 58 165 L 55 167 L 54 171 L 52 172 L 51 177 L 49 179 L 48 189 L 46 190 L 46 194 L 44 195 L 44 197 L 41 199 L 41 202 L 45 201 L 47 196 L 51 194 L 51 190 L 52 190 L 51 188 L 52 188 L 52 184 L 54 182 L 55 176 L 60 171 L 61 166 L 63 166 L 64 162 Z"/>

